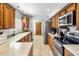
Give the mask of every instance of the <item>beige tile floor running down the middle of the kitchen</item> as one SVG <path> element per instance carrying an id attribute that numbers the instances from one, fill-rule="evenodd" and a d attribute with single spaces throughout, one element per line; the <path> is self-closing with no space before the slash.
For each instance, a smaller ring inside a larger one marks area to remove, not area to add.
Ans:
<path id="1" fill-rule="evenodd" d="M 43 35 L 34 35 L 33 39 L 33 56 L 53 56 L 50 47 L 44 44 Z"/>

